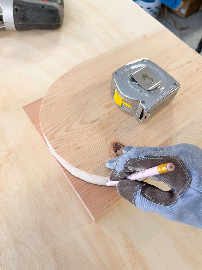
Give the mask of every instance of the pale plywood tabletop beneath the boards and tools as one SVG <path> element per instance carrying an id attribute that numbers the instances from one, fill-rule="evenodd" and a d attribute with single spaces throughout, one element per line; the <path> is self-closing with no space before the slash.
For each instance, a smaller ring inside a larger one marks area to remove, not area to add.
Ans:
<path id="1" fill-rule="evenodd" d="M 1 29 L 0 269 L 201 269 L 200 229 L 126 200 L 93 222 L 22 109 L 76 64 L 162 27 L 131 0 L 67 0 L 57 31 Z M 202 147 L 201 124 L 191 131 L 183 142 Z"/>

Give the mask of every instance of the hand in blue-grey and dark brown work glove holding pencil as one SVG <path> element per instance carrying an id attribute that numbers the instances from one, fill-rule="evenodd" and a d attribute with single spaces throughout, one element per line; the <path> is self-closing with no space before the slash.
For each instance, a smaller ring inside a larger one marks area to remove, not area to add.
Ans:
<path id="1" fill-rule="evenodd" d="M 157 212 L 174 220 L 202 228 L 202 149 L 192 144 L 165 147 L 125 146 L 123 155 L 106 162 L 113 169 L 111 181 L 121 180 L 134 171 L 140 171 L 172 162 L 175 170 L 152 176 L 164 181 L 170 191 L 138 180 L 123 179 L 117 191 L 138 208 Z"/>

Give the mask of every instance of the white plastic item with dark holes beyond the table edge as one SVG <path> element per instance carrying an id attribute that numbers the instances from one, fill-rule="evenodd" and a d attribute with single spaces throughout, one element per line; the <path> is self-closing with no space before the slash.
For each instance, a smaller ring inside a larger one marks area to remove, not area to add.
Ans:
<path id="1" fill-rule="evenodd" d="M 134 0 L 133 0 L 134 1 Z M 161 7 L 161 2 L 159 0 L 137 0 L 134 1 L 138 6 L 141 6 L 145 11 L 147 11 L 154 18 L 159 15 L 159 9 Z"/>

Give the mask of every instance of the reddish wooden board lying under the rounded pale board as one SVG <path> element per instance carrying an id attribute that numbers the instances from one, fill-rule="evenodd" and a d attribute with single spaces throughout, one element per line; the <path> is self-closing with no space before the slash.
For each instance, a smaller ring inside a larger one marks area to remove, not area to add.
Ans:
<path id="1" fill-rule="evenodd" d="M 42 100 L 43 98 L 36 100 L 23 107 L 23 109 L 46 144 L 39 121 Z M 94 221 L 123 200 L 117 193 L 116 187 L 105 187 L 87 183 L 70 174 L 57 160 L 56 162 Z"/>

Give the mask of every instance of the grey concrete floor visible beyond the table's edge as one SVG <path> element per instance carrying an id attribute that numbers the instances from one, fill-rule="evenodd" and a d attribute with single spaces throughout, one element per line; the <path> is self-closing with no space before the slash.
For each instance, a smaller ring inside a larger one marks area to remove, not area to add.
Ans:
<path id="1" fill-rule="evenodd" d="M 172 12 L 168 12 L 168 18 L 175 21 L 178 27 L 189 26 L 189 28 L 181 31 L 177 30 L 168 20 L 166 20 L 164 9 L 161 8 L 157 20 L 184 41 L 184 43 L 195 50 L 202 38 L 202 12 L 198 11 L 184 19 Z M 202 55 L 202 52 L 200 54 Z"/>

